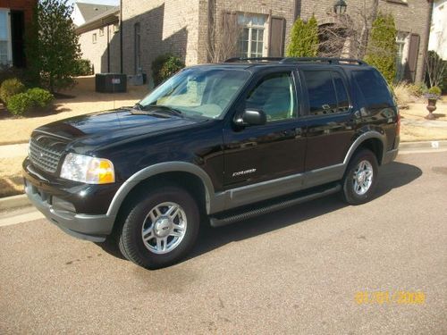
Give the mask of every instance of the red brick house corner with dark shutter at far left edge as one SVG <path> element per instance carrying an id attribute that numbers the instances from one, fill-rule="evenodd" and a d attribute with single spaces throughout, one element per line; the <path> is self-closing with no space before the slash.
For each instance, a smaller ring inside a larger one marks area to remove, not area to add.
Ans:
<path id="1" fill-rule="evenodd" d="M 0 0 L 0 64 L 26 65 L 25 33 L 38 0 Z"/>

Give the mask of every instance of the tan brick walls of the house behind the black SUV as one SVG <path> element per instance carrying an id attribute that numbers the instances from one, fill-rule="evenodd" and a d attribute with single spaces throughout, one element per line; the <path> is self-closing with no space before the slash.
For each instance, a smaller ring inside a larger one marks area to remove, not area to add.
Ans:
<path id="1" fill-rule="evenodd" d="M 371 1 L 372 0 L 367 0 Z M 354 13 L 364 0 L 350 0 L 348 14 Z M 299 13 L 308 19 L 315 13 L 320 22 L 333 13 L 333 0 L 300 0 Z M 380 1 L 380 10 L 392 13 L 400 31 L 420 36 L 417 80 L 424 69 L 426 25 L 429 11 L 426 0 Z M 208 18 L 213 14 L 216 24 L 223 12 L 259 13 L 285 19 L 287 46 L 296 10 L 295 0 L 134 0 L 123 1 L 123 65 L 124 72 L 135 72 L 134 25 L 139 22 L 141 34 L 141 67 L 150 73 L 158 54 L 178 54 L 187 65 L 207 62 Z M 267 25 L 268 33 L 268 25 Z"/>

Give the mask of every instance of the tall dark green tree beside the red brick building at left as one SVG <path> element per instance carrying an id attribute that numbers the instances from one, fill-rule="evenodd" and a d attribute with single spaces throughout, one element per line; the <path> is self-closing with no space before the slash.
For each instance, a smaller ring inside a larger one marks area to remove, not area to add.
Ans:
<path id="1" fill-rule="evenodd" d="M 39 0 L 34 11 L 26 54 L 31 79 L 48 88 L 71 87 L 80 60 L 78 36 L 68 0 Z"/>

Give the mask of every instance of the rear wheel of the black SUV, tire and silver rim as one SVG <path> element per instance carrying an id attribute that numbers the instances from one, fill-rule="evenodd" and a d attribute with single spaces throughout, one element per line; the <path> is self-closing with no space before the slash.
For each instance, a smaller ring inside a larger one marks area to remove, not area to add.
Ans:
<path id="1" fill-rule="evenodd" d="M 350 205 L 370 201 L 375 192 L 379 166 L 375 155 L 367 149 L 359 150 L 351 158 L 342 180 L 342 199 Z"/>

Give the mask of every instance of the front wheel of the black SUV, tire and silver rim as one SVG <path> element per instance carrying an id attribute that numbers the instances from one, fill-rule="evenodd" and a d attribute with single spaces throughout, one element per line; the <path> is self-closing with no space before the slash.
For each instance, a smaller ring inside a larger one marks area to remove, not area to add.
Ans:
<path id="1" fill-rule="evenodd" d="M 199 225 L 198 205 L 190 193 L 175 186 L 159 187 L 135 197 L 122 223 L 118 245 L 131 262 L 154 270 L 188 255 Z"/>

